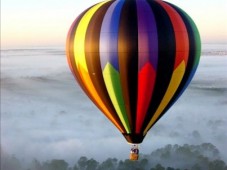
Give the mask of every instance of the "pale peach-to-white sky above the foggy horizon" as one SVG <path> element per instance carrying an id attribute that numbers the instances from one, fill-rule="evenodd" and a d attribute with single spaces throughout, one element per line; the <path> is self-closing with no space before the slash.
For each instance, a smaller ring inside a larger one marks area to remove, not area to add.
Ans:
<path id="1" fill-rule="evenodd" d="M 166 0 L 195 21 L 202 43 L 227 43 L 226 0 Z M 1 47 L 65 46 L 74 19 L 100 0 L 1 0 Z"/>

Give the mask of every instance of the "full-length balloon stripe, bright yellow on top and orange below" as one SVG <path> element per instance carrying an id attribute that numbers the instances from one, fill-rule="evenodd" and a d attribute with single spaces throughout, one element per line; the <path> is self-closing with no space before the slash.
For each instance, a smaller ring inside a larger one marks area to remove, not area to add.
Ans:
<path id="1" fill-rule="evenodd" d="M 83 81 L 85 88 L 88 90 L 91 97 L 97 102 L 99 108 L 105 113 L 105 115 L 114 123 L 114 125 L 121 131 L 124 130 L 119 126 L 119 123 L 113 118 L 110 111 L 107 109 L 105 104 L 103 103 L 102 99 L 100 98 L 99 94 L 97 93 L 90 75 L 88 73 L 88 68 L 86 64 L 86 56 L 85 56 L 85 37 L 86 37 L 86 30 L 94 13 L 105 3 L 108 1 L 99 3 L 88 10 L 85 15 L 82 17 L 81 21 L 78 24 L 75 39 L 74 39 L 74 60 L 76 63 L 77 70 L 80 74 L 80 77 Z"/>

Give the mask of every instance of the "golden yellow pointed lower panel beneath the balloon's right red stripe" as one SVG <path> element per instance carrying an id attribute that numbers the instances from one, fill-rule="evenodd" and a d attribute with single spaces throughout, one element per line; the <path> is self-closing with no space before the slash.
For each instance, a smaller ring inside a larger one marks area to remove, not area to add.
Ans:
<path id="1" fill-rule="evenodd" d="M 148 126 L 144 130 L 144 134 L 147 133 L 147 131 L 151 128 L 151 126 L 158 119 L 158 117 L 160 116 L 162 111 L 165 109 L 165 107 L 170 102 L 171 98 L 173 97 L 173 95 L 175 94 L 177 88 L 180 85 L 180 82 L 181 82 L 181 80 L 182 80 L 182 78 L 184 76 L 184 73 L 185 73 L 185 62 L 182 61 L 180 63 L 180 65 L 173 72 L 173 75 L 172 75 L 170 84 L 169 84 L 169 86 L 167 88 L 167 91 L 166 91 L 166 93 L 165 93 L 165 95 L 164 95 L 164 97 L 163 97 L 158 109 L 156 110 L 154 116 L 152 117 L 152 119 L 149 122 Z"/>

